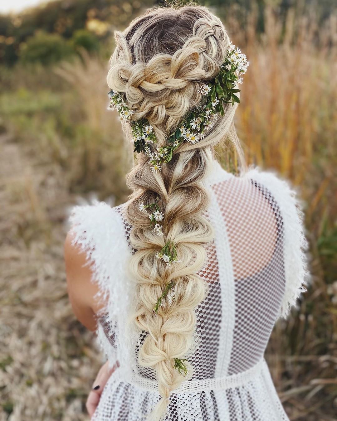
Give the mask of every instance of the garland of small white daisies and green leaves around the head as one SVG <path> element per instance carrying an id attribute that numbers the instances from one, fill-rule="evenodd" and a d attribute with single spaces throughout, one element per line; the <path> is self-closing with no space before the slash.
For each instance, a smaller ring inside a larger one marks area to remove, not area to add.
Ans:
<path id="1" fill-rule="evenodd" d="M 190 111 L 182 120 L 179 128 L 171 133 L 167 139 L 167 145 L 152 152 L 150 144 L 155 144 L 157 139 L 150 123 L 142 118 L 131 120 L 134 110 L 128 107 L 124 93 L 110 91 L 109 109 L 116 109 L 123 120 L 131 124 L 134 152 L 144 152 L 149 157 L 151 171 L 161 171 L 162 165 L 171 161 L 173 152 L 183 142 L 195 144 L 202 140 L 206 133 L 214 126 L 218 115 L 224 115 L 224 104 L 234 105 L 240 102 L 235 93 L 240 92 L 236 84 L 242 83 L 249 66 L 246 55 L 239 48 L 230 44 L 226 51 L 226 58 L 220 67 L 220 72 L 214 80 L 203 82 L 199 86 L 199 92 L 205 97 L 203 104 Z"/>

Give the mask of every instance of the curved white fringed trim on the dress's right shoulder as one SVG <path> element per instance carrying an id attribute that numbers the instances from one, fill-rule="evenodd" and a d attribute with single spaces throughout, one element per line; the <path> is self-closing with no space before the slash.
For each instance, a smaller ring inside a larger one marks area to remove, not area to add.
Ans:
<path id="1" fill-rule="evenodd" d="M 284 266 L 286 286 L 280 316 L 286 318 L 297 298 L 306 291 L 310 280 L 308 271 L 308 241 L 305 237 L 304 202 L 299 189 L 273 171 L 250 167 L 241 174 L 267 188 L 278 204 L 284 222 Z"/>

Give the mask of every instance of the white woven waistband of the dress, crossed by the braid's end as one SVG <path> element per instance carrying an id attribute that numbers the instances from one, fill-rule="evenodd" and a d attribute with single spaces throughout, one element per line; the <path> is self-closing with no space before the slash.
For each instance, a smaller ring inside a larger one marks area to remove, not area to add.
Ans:
<path id="1" fill-rule="evenodd" d="M 241 386 L 254 378 L 262 369 L 264 364 L 265 360 L 262 358 L 259 362 L 257 362 L 257 364 L 253 365 L 253 367 L 238 374 L 218 378 L 206 378 L 203 380 L 186 380 L 174 390 L 174 393 L 232 389 Z M 126 381 L 149 392 L 158 392 L 158 381 L 145 378 L 140 376 L 138 373 L 132 372 L 129 376 L 127 376 Z"/>

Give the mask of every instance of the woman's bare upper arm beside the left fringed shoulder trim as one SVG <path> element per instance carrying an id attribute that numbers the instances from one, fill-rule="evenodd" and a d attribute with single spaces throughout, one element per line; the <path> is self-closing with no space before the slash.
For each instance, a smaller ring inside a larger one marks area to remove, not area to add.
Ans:
<path id="1" fill-rule="evenodd" d="M 72 234 L 68 232 L 64 243 L 67 289 L 72 309 L 78 320 L 89 330 L 96 330 L 96 314 L 99 306 L 94 300 L 97 285 L 91 282 L 92 272 L 86 264 L 86 254 L 72 245 Z"/>

